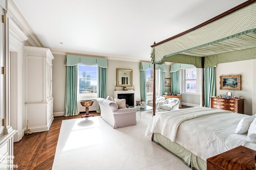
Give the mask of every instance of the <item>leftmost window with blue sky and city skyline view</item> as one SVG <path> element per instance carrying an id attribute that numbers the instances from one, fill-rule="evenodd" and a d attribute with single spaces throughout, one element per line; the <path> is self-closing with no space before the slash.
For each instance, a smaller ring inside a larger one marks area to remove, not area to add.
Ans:
<path id="1" fill-rule="evenodd" d="M 97 94 L 97 66 L 79 64 L 79 94 Z"/>

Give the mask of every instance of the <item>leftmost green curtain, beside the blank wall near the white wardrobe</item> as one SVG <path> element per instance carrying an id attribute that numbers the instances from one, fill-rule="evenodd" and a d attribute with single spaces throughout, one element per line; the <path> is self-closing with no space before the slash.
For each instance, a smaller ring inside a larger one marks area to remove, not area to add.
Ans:
<path id="1" fill-rule="evenodd" d="M 78 115 L 78 65 L 66 68 L 66 93 L 64 116 Z"/>

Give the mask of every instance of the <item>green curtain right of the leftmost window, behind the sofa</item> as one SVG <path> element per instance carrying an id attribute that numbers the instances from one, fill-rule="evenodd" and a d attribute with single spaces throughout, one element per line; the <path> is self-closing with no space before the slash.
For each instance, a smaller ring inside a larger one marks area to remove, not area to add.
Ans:
<path id="1" fill-rule="evenodd" d="M 98 66 L 98 92 L 97 98 L 106 98 L 106 82 L 107 82 L 107 68 Z M 100 112 L 100 106 L 97 106 L 97 112 Z"/>

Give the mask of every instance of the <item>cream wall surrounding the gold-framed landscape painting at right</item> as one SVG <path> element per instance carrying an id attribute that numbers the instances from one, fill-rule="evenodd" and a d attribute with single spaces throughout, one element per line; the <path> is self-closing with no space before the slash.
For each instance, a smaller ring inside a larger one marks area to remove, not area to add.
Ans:
<path id="1" fill-rule="evenodd" d="M 256 60 L 246 60 L 231 63 L 222 63 L 216 66 L 216 96 L 232 92 L 232 96 L 243 96 L 244 114 L 256 113 L 255 83 L 256 83 Z M 220 76 L 241 75 L 241 90 L 220 90 Z M 254 104 L 254 106 L 252 105 Z M 252 110 L 253 106 L 253 110 Z"/>

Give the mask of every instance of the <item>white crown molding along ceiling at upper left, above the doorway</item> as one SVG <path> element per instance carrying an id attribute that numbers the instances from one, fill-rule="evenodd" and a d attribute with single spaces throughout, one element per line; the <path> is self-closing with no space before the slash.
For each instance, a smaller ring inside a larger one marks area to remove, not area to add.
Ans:
<path id="1" fill-rule="evenodd" d="M 42 41 L 38 38 L 35 31 L 32 29 L 28 20 L 22 14 L 15 0 L 8 0 L 8 16 L 15 25 L 26 35 L 27 41 L 34 47 L 44 47 Z"/>

